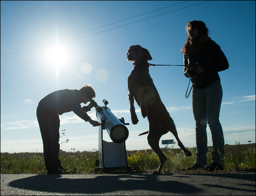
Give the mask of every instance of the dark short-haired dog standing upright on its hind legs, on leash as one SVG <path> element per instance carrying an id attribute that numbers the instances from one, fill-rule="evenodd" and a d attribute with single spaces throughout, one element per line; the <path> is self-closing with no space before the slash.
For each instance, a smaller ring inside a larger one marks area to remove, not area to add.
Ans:
<path id="1" fill-rule="evenodd" d="M 135 125 L 139 122 L 134 108 L 134 100 L 141 109 L 142 116 L 148 117 L 149 131 L 148 143 L 159 156 L 160 165 L 152 174 L 160 174 L 167 158 L 159 147 L 159 140 L 167 132 L 172 132 L 179 147 L 190 157 L 192 154 L 187 150 L 178 138 L 178 133 L 169 112 L 160 99 L 152 78 L 149 75 L 148 60 L 152 60 L 149 51 L 140 45 L 133 45 L 126 54 L 128 61 L 133 61 L 133 70 L 128 76 L 128 100 L 130 105 L 131 120 Z"/>

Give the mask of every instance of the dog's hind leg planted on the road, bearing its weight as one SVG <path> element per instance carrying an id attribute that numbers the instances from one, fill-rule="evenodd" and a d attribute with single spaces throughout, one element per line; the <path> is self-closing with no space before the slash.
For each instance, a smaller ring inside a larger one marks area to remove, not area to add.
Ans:
<path id="1" fill-rule="evenodd" d="M 149 135 L 148 135 L 148 143 L 150 147 L 155 151 L 155 153 L 158 155 L 160 159 L 160 165 L 157 171 L 152 172 L 152 174 L 160 174 L 161 170 L 167 160 L 165 155 L 162 153 L 160 147 L 159 147 L 159 140 L 162 135 L 159 134 L 157 129 L 152 129 L 152 127 L 149 127 Z"/>

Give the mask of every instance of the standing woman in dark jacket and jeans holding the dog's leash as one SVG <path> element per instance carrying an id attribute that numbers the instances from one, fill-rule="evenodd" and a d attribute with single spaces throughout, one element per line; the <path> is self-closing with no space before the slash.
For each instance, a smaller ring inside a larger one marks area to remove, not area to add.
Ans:
<path id="1" fill-rule="evenodd" d="M 224 136 L 219 122 L 222 87 L 218 72 L 228 69 L 229 63 L 219 45 L 208 37 L 208 28 L 203 21 L 188 22 L 186 30 L 187 40 L 181 53 L 184 53 L 184 74 L 191 77 L 193 83 L 192 109 L 197 145 L 195 163 L 186 170 L 223 170 Z M 207 123 L 213 140 L 212 162 L 208 165 Z"/>

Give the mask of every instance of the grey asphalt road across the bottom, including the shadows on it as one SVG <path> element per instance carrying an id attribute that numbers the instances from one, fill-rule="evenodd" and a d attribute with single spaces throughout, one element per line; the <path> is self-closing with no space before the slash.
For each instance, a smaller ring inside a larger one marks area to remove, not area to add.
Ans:
<path id="1" fill-rule="evenodd" d="M 255 172 L 171 175 L 1 174 L 1 195 L 256 195 Z"/>

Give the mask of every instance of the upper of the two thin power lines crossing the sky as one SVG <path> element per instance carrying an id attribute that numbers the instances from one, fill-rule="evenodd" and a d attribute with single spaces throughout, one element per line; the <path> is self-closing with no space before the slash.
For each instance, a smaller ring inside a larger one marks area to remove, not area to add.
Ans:
<path id="1" fill-rule="evenodd" d="M 187 1 L 189 1 L 189 0 L 187 0 Z M 89 32 L 89 31 L 92 31 L 92 30 L 96 30 L 96 29 L 102 28 L 102 27 L 104 27 L 104 26 L 109 26 L 109 25 L 112 25 L 112 24 L 116 24 L 116 23 L 118 23 L 118 22 L 127 21 L 127 20 L 129 20 L 129 19 L 136 18 L 136 17 L 139 17 L 139 16 L 143 16 L 143 15 L 145 15 L 145 14 L 149 14 L 149 13 L 152 13 L 152 12 L 155 12 L 155 11 L 163 10 L 163 9 L 165 9 L 165 8 L 172 7 L 172 6 L 175 6 L 175 5 L 179 5 L 179 4 L 182 4 L 182 3 L 186 3 L 187 1 L 183 1 L 183 2 L 181 2 L 181 3 L 177 3 L 177 4 L 174 4 L 174 5 L 169 5 L 169 6 L 167 6 L 167 7 L 163 7 L 163 8 L 154 10 L 154 11 L 149 11 L 149 12 L 146 12 L 146 13 L 144 13 L 144 14 L 137 15 L 137 16 L 132 16 L 132 17 L 130 17 L 130 18 L 123 19 L 123 20 L 121 20 L 121 21 L 112 22 L 112 23 L 109 23 L 109 24 L 107 24 L 107 25 L 103 25 L 103 26 L 99 26 L 99 27 L 96 27 L 96 28 L 93 28 L 93 29 L 90 29 L 90 30 L 86 30 L 86 31 L 84 31 L 84 32 Z M 62 37 L 62 38 L 59 38 L 59 39 L 54 40 L 54 41 L 51 41 L 51 42 L 55 42 L 55 41 L 58 41 L 58 40 L 61 40 L 61 39 L 65 39 L 65 38 L 68 38 L 68 37 L 72 37 L 72 36 L 75 36 L 75 35 L 78 35 L 78 34 L 81 34 L 81 33 L 84 33 L 84 32 L 79 32 L 79 33 L 76 33 L 76 34 L 73 34 L 73 35 L 69 35 L 69 36 L 67 36 L 67 37 Z M 21 49 L 21 50 L 12 52 L 12 53 L 21 52 L 21 51 L 23 51 L 23 50 L 27 50 L 27 49 L 30 49 L 30 48 L 35 48 L 35 47 L 37 47 L 37 46 L 42 46 L 42 45 L 45 45 L 45 44 L 48 44 L 48 43 L 51 43 L 51 42 L 42 43 L 42 44 L 35 45 L 35 46 L 29 47 L 29 48 L 24 48 L 24 49 Z M 6 55 L 8 55 L 8 54 L 12 54 L 12 53 L 3 54 L 3 55 L 1 55 L 1 57 L 6 56 Z"/>

